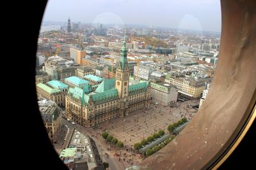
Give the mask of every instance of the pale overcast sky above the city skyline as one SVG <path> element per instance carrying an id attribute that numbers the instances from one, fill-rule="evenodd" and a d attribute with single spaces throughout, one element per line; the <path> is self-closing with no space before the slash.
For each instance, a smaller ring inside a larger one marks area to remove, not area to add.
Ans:
<path id="1" fill-rule="evenodd" d="M 45 21 L 221 31 L 220 0 L 49 0 Z"/>

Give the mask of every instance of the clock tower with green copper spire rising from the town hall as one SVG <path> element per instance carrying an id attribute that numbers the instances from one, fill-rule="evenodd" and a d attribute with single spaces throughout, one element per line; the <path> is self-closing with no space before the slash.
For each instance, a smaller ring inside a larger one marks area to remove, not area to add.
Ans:
<path id="1" fill-rule="evenodd" d="M 120 116 L 125 116 L 128 114 L 128 88 L 129 88 L 129 67 L 127 62 L 127 49 L 125 47 L 125 37 L 123 41 L 123 46 L 120 52 L 120 62 L 116 69 L 116 89 L 118 91 L 118 96 L 120 98 Z"/>

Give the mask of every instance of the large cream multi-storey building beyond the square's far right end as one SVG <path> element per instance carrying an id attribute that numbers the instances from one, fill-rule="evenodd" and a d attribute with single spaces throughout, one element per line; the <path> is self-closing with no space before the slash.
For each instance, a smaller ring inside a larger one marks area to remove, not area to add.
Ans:
<path id="1" fill-rule="evenodd" d="M 205 89 L 204 80 L 195 80 L 184 76 L 170 76 L 170 78 L 166 78 L 164 81 L 171 85 L 175 85 L 181 96 L 188 97 L 190 99 L 200 98 L 203 90 Z"/>

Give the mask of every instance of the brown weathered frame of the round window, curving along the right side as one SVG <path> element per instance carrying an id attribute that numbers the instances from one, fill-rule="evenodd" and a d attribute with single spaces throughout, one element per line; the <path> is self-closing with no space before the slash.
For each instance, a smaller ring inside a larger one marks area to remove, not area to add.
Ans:
<path id="1" fill-rule="evenodd" d="M 207 99 L 177 138 L 127 169 L 216 169 L 236 148 L 256 114 L 255 9 L 256 1 L 221 0 L 220 60 Z"/>

